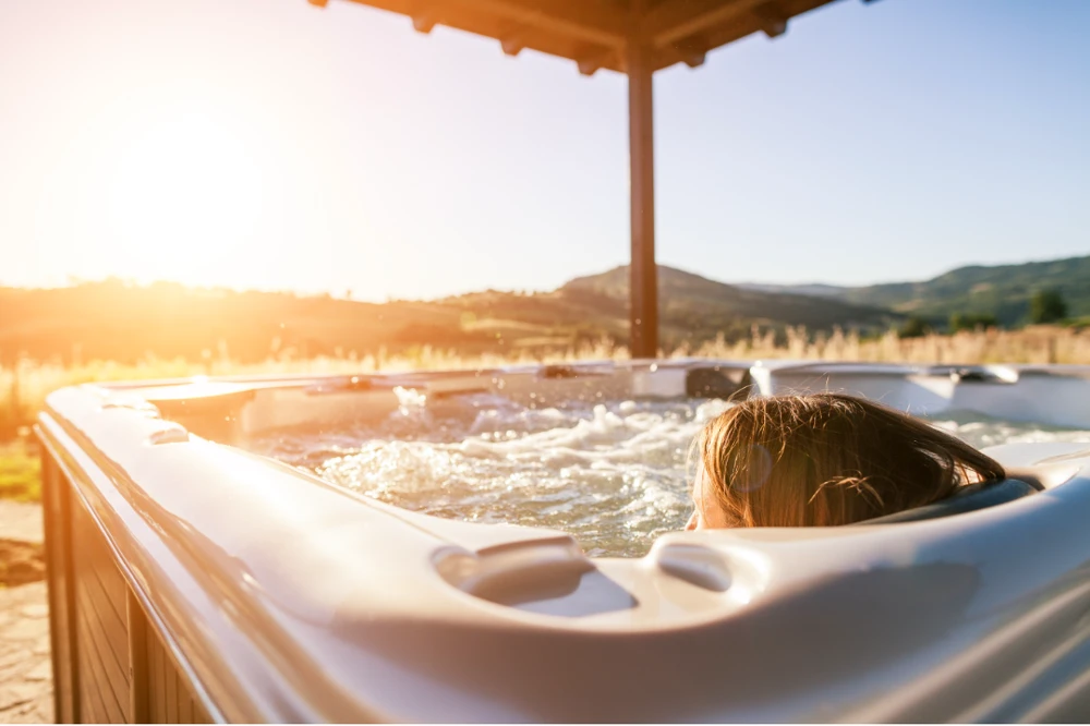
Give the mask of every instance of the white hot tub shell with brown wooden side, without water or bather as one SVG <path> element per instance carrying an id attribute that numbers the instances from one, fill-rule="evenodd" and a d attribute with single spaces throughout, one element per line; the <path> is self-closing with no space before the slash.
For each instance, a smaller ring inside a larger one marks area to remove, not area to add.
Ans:
<path id="1" fill-rule="evenodd" d="M 407 407 L 594 411 L 806 390 L 940 425 L 967 412 L 1031 422 L 1044 434 L 988 449 L 1031 494 L 913 521 L 652 532 L 646 554 L 602 557 L 582 534 L 411 511 L 258 445 Z M 1090 368 L 1074 366 L 680 360 L 65 388 L 38 425 L 57 714 L 1083 721 L 1081 429 Z"/>

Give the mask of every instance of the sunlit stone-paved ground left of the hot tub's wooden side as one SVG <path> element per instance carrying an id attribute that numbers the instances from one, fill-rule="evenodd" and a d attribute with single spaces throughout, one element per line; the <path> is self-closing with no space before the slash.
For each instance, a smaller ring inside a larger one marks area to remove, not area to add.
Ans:
<path id="1" fill-rule="evenodd" d="M 0 723 L 51 724 L 41 507 L 0 499 Z"/>

